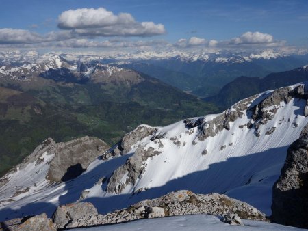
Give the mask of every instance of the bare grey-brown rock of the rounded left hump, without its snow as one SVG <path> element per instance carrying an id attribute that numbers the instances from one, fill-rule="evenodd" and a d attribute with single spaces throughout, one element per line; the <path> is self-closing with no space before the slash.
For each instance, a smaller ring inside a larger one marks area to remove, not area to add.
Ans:
<path id="1" fill-rule="evenodd" d="M 44 155 L 45 157 L 53 156 L 47 162 L 49 165 L 47 173 L 49 181 L 70 180 L 84 172 L 88 165 L 108 148 L 104 141 L 95 137 L 81 137 L 66 143 L 55 143 L 51 138 L 46 139 L 21 164 L 16 165 L 0 179 L 0 187 L 8 183 L 10 174 L 17 172 L 17 169 L 25 169 L 31 163 L 35 163 L 35 165 L 42 164 Z M 16 193 L 21 193 L 21 191 L 16 191 Z"/>

